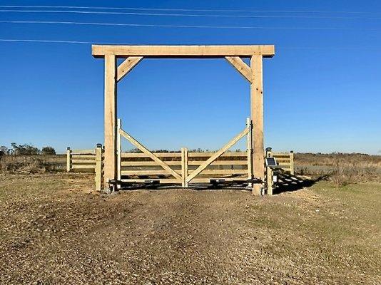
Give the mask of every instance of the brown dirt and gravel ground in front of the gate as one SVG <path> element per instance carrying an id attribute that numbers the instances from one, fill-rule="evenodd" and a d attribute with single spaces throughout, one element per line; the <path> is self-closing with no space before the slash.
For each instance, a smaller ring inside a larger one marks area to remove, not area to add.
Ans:
<path id="1" fill-rule="evenodd" d="M 381 284 L 381 184 L 92 188 L 0 175 L 0 284 Z"/>

